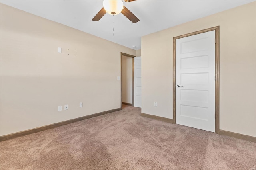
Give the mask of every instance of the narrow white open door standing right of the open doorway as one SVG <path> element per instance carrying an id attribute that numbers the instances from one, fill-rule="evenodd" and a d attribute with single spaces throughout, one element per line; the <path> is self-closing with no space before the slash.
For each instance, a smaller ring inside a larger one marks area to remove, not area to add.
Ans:
<path id="1" fill-rule="evenodd" d="M 141 108 L 141 57 L 134 58 L 134 107 Z"/>

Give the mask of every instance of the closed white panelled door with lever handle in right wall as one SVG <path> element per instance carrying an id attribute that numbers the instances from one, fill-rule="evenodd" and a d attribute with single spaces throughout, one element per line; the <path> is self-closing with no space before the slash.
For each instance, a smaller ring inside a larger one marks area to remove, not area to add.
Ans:
<path id="1" fill-rule="evenodd" d="M 176 40 L 176 123 L 215 132 L 215 31 Z"/>

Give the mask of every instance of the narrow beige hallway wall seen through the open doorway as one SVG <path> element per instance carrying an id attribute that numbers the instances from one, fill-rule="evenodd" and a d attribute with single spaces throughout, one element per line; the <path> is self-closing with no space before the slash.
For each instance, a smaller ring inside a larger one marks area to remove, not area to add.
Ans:
<path id="1" fill-rule="evenodd" d="M 132 104 L 132 57 L 122 56 L 122 102 Z"/>

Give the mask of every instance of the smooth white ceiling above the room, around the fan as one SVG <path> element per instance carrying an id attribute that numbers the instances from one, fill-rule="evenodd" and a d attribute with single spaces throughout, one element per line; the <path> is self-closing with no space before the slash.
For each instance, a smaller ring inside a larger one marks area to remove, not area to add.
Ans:
<path id="1" fill-rule="evenodd" d="M 124 2 L 140 21 L 132 23 L 123 14 L 105 14 L 91 19 L 102 8 L 102 0 L 1 0 L 1 3 L 62 23 L 126 47 L 141 48 L 141 37 L 181 23 L 196 20 L 252 1 L 248 0 L 137 0 Z M 114 23 L 113 23 L 114 21 Z M 113 36 L 114 25 L 114 36 Z"/>

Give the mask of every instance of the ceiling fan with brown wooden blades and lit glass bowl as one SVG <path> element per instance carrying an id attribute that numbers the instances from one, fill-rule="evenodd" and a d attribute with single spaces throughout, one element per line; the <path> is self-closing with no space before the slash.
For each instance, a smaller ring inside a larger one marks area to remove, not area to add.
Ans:
<path id="1" fill-rule="evenodd" d="M 124 2 L 132 2 L 136 0 L 124 0 Z M 99 21 L 106 13 L 110 15 L 117 15 L 119 13 L 124 14 L 126 18 L 128 18 L 133 23 L 140 21 L 130 10 L 128 10 L 122 0 L 104 0 L 103 1 L 103 8 L 92 18 L 92 21 Z"/>

